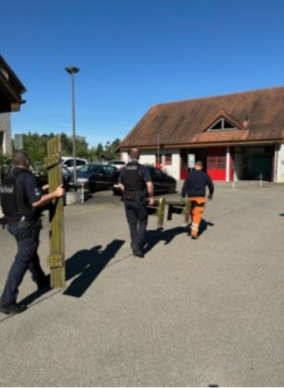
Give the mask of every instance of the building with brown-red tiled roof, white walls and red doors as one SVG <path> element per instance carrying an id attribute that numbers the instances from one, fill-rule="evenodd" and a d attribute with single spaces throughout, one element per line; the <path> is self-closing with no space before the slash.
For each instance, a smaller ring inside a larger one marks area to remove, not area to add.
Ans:
<path id="1" fill-rule="evenodd" d="M 184 179 L 195 160 L 213 180 L 284 182 L 284 87 L 153 106 L 120 143 Z"/>

